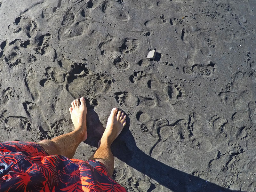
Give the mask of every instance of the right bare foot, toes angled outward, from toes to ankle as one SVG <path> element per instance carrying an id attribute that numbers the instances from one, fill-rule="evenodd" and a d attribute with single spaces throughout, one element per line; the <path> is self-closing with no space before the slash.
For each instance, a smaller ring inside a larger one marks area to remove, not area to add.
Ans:
<path id="1" fill-rule="evenodd" d="M 108 144 L 112 144 L 116 137 L 121 133 L 126 124 L 124 113 L 121 113 L 121 110 L 118 111 L 117 108 L 113 108 L 110 116 L 108 117 L 108 123 L 106 129 L 102 135 L 100 142 L 106 141 Z"/>

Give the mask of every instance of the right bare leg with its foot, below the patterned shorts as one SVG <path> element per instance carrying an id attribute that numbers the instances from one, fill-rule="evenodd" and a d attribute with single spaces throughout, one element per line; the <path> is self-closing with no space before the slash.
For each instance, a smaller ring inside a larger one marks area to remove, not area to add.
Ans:
<path id="1" fill-rule="evenodd" d="M 124 125 L 126 124 L 125 118 L 126 116 L 124 113 L 121 113 L 120 110 L 117 112 L 117 108 L 112 109 L 111 114 L 108 117 L 106 129 L 99 141 L 99 147 L 89 158 L 89 160 L 96 160 L 103 163 L 110 176 L 113 175 L 114 171 L 114 156 L 110 146 L 123 130 Z"/>

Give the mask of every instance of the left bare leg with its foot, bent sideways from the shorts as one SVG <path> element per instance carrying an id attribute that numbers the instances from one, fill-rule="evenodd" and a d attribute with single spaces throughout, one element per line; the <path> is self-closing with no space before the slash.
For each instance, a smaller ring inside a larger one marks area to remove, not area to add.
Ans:
<path id="1" fill-rule="evenodd" d="M 63 155 L 72 158 L 76 153 L 78 145 L 87 139 L 85 99 L 82 97 L 72 101 L 69 108 L 75 130 L 53 138 L 52 140 L 42 140 L 41 145 L 49 155 Z"/>

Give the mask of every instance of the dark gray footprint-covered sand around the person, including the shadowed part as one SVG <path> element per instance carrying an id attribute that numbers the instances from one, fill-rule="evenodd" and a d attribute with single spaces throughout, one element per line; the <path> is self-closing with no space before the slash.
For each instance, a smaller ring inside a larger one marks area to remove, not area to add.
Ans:
<path id="1" fill-rule="evenodd" d="M 255 191 L 255 14 L 255 0 L 2 0 L 0 140 L 71 131 L 85 97 L 75 158 L 124 110 L 113 178 L 128 191 Z"/>

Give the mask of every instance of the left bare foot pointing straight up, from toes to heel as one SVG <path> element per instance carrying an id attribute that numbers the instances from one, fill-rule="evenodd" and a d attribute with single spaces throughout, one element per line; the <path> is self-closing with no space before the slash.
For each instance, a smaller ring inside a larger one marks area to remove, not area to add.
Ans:
<path id="1" fill-rule="evenodd" d="M 82 141 L 87 139 L 86 131 L 86 113 L 87 108 L 85 105 L 85 99 L 81 97 L 71 102 L 69 112 L 71 115 L 72 122 L 75 126 L 75 130 L 81 131 Z"/>

